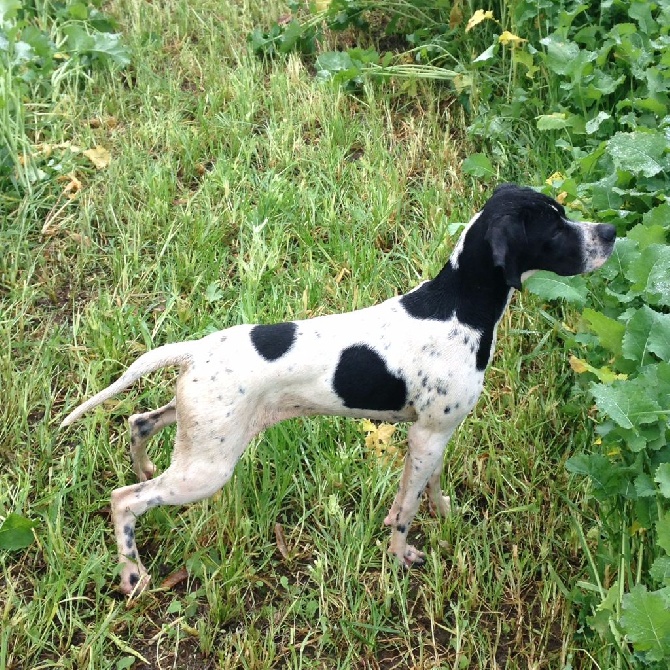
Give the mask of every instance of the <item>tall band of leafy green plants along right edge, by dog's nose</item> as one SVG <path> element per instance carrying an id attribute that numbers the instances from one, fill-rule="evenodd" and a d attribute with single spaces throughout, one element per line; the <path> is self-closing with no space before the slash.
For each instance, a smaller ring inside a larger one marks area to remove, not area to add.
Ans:
<path id="1" fill-rule="evenodd" d="M 529 61 L 551 74 L 551 106 L 536 115 L 537 129 L 555 136 L 570 159 L 551 185 L 576 206 L 590 203 L 594 218 L 614 223 L 621 236 L 584 294 L 586 332 L 574 338 L 583 348 L 573 359 L 578 393 L 594 399 L 600 419 L 594 450 L 567 464 L 589 478 L 601 519 L 597 550 L 584 543 L 598 594 L 589 621 L 624 656 L 629 643 L 637 661 L 666 667 L 670 11 L 663 3 L 603 2 L 596 21 L 588 5 L 563 9 Z M 605 574 L 617 575 L 610 589 Z"/>

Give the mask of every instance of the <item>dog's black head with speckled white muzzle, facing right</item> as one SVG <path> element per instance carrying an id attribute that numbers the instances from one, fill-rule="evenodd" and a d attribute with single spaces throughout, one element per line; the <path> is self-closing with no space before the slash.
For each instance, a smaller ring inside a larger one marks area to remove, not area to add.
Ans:
<path id="1" fill-rule="evenodd" d="M 571 221 L 560 203 L 513 184 L 494 191 L 477 223 L 485 227 L 494 266 L 517 289 L 536 270 L 566 276 L 599 268 L 616 238 L 614 226 Z"/>

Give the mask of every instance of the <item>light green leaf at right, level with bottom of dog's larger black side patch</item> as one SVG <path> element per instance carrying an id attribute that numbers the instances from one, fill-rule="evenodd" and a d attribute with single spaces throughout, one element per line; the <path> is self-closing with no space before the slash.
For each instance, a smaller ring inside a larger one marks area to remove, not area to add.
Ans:
<path id="1" fill-rule="evenodd" d="M 658 420 L 661 411 L 658 403 L 646 395 L 644 387 L 634 380 L 609 385 L 594 383 L 591 384 L 591 393 L 598 409 L 622 428 L 653 423 Z"/>

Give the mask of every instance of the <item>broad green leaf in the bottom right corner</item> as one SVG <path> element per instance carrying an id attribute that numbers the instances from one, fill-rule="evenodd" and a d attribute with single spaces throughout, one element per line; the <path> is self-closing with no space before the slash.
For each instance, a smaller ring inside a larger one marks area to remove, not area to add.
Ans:
<path id="1" fill-rule="evenodd" d="M 621 627 L 638 652 L 650 661 L 670 658 L 670 608 L 657 592 L 634 586 L 623 597 Z"/>

